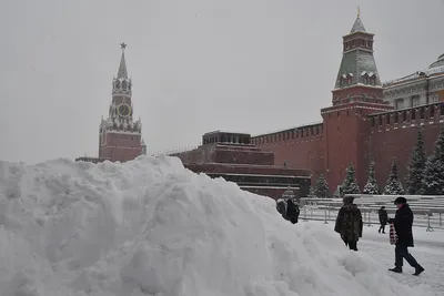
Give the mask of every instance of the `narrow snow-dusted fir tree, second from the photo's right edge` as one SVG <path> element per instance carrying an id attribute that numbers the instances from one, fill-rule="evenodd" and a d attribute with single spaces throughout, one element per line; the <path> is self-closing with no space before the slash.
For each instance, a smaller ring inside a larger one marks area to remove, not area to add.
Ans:
<path id="1" fill-rule="evenodd" d="M 408 164 L 408 175 L 405 178 L 408 194 L 416 195 L 423 192 L 423 176 L 427 159 L 424 152 L 424 140 L 421 130 L 417 130 L 416 146 L 413 149 Z"/>

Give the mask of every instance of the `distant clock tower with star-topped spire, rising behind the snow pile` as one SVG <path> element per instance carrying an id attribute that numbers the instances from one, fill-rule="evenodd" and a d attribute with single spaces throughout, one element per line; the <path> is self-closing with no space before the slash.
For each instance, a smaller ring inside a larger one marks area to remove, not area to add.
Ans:
<path id="1" fill-rule="evenodd" d="M 108 119 L 100 123 L 99 159 L 127 162 L 144 154 L 142 123 L 133 120 L 132 82 L 128 76 L 124 57 L 125 43 L 121 43 L 122 55 L 118 75 L 112 80 L 112 101 Z"/>

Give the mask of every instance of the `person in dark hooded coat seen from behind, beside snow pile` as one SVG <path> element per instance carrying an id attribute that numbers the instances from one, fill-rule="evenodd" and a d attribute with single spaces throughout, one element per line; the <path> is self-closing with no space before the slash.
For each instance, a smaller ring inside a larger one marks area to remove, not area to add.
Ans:
<path id="1" fill-rule="evenodd" d="M 357 242 L 362 237 L 363 221 L 361 211 L 353 204 L 353 196 L 343 198 L 344 205 L 337 213 L 334 231 L 350 249 L 357 251 Z"/>

